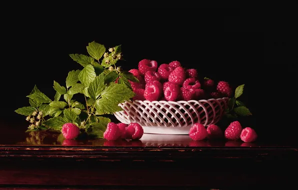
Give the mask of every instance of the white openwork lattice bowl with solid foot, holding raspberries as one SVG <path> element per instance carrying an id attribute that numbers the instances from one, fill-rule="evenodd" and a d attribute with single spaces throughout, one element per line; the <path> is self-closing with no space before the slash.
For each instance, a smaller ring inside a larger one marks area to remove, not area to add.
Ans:
<path id="1" fill-rule="evenodd" d="M 144 133 L 188 134 L 196 122 L 205 126 L 218 122 L 227 101 L 228 97 L 189 101 L 125 101 L 119 104 L 123 110 L 114 115 L 126 124 L 139 123 Z"/>

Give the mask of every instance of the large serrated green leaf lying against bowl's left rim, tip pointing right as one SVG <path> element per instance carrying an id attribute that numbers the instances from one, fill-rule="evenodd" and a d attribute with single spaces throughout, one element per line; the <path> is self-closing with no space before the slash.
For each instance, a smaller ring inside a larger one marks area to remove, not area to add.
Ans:
<path id="1" fill-rule="evenodd" d="M 129 100 L 135 93 L 124 84 L 113 83 L 101 93 L 101 97 L 108 99 L 111 103 L 122 103 Z"/>

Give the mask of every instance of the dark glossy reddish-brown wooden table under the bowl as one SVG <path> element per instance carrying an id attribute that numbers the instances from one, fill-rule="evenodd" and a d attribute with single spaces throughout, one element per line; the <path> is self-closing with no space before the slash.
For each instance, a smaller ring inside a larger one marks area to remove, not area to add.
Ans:
<path id="1" fill-rule="evenodd" d="M 0 189 L 254 189 L 298 187 L 298 146 L 288 142 L 64 140 L 1 123 Z"/>

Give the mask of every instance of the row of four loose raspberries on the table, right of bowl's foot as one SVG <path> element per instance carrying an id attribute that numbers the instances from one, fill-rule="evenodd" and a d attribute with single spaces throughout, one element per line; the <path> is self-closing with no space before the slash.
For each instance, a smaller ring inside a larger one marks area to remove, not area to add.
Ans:
<path id="1" fill-rule="evenodd" d="M 201 123 L 195 123 L 189 129 L 188 134 L 193 140 L 222 138 L 224 136 L 229 140 L 241 139 L 244 142 L 252 142 L 257 138 L 257 134 L 254 129 L 248 126 L 242 128 L 239 121 L 232 121 L 224 130 L 224 133 L 221 128 L 215 124 L 210 124 L 205 127 Z"/>

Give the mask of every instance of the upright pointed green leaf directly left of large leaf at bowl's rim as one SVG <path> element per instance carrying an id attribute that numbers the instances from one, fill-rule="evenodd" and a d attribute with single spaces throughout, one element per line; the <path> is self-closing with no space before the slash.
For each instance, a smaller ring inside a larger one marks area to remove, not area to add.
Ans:
<path id="1" fill-rule="evenodd" d="M 91 98 L 96 99 L 101 94 L 104 88 L 104 74 L 101 73 L 99 76 L 96 76 L 96 78 L 92 82 L 90 82 L 88 87 L 88 94 Z"/>

